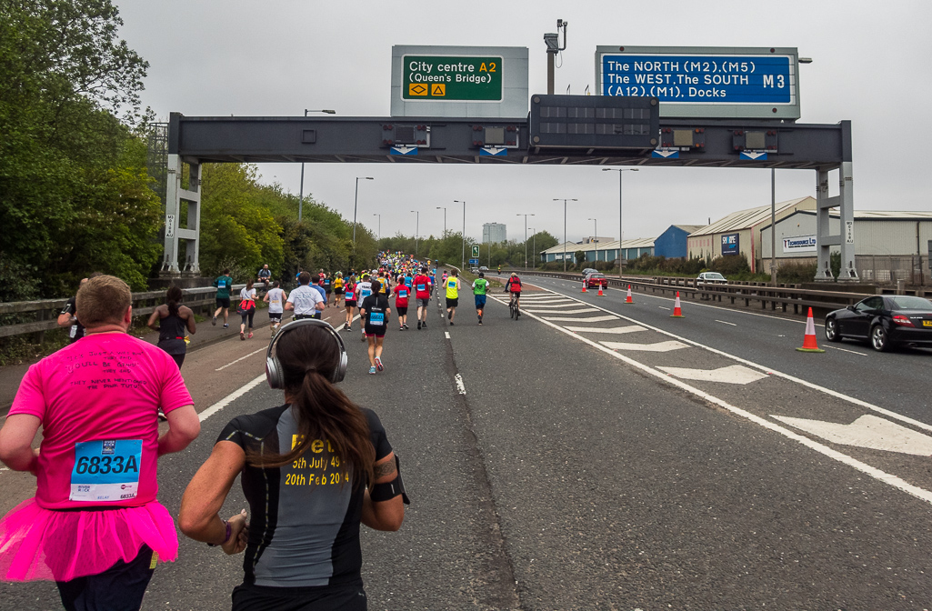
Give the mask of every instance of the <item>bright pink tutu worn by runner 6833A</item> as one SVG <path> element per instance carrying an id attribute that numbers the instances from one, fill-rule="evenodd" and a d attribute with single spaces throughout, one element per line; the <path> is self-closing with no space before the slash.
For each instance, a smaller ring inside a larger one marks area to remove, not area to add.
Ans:
<path id="1" fill-rule="evenodd" d="M 0 520 L 0 579 L 69 581 L 130 562 L 143 545 L 161 562 L 178 557 L 178 535 L 158 502 L 102 511 L 52 511 L 34 498 Z"/>

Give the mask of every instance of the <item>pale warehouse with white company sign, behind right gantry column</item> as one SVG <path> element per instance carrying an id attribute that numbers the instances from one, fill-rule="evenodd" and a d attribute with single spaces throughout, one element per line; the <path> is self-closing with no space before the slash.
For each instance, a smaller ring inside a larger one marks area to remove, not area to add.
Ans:
<path id="1" fill-rule="evenodd" d="M 839 216 L 829 213 L 837 235 Z M 797 210 L 777 220 L 776 265 L 816 263 L 816 212 Z M 770 223 L 761 225 L 761 271 L 770 272 Z M 868 282 L 909 280 L 927 283 L 932 211 L 855 210 L 855 267 Z M 833 248 L 832 251 L 838 251 Z M 920 279 L 922 278 L 922 279 Z"/>

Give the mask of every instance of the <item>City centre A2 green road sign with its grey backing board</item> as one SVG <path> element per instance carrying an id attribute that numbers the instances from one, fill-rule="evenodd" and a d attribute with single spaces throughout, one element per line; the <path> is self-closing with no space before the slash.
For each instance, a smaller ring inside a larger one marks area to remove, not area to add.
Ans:
<path id="1" fill-rule="evenodd" d="M 528 115 L 528 48 L 391 48 L 392 116 Z"/>

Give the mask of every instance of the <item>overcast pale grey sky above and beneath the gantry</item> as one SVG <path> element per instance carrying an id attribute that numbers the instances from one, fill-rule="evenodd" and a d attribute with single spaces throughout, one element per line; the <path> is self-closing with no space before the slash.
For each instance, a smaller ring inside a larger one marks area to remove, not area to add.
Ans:
<path id="1" fill-rule="evenodd" d="M 115 0 L 122 35 L 150 68 L 144 105 L 160 118 L 303 115 L 389 116 L 393 45 L 527 47 L 529 89 L 546 92 L 545 32 L 569 21 L 556 93 L 597 89 L 596 46 L 795 47 L 804 123 L 853 122 L 856 210 L 932 210 L 928 161 L 918 143 L 932 101 L 932 3 L 648 2 L 472 0 L 470 2 Z M 298 192 L 298 164 L 263 164 L 263 181 Z M 493 165 L 308 164 L 305 194 L 352 218 L 356 176 L 359 222 L 383 236 L 421 236 L 482 224 L 528 226 L 569 239 L 618 237 L 618 177 L 598 168 Z M 815 195 L 813 170 L 777 171 L 777 200 Z M 834 194 L 834 192 L 833 192 Z M 624 238 L 654 238 L 670 224 L 706 224 L 734 210 L 770 204 L 770 171 L 644 168 L 624 175 Z M 529 234 L 528 234 L 529 235 Z"/>

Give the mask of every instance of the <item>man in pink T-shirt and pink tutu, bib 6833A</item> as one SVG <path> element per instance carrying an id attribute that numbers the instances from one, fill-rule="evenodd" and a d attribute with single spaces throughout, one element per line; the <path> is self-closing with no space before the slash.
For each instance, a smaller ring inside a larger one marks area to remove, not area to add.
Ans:
<path id="1" fill-rule="evenodd" d="M 0 429 L 0 460 L 36 477 L 34 498 L 0 521 L 0 578 L 53 579 L 66 608 L 138 608 L 156 564 L 178 555 L 158 456 L 200 425 L 174 360 L 126 333 L 131 299 L 119 278 L 84 284 L 85 337 L 29 368 Z"/>

